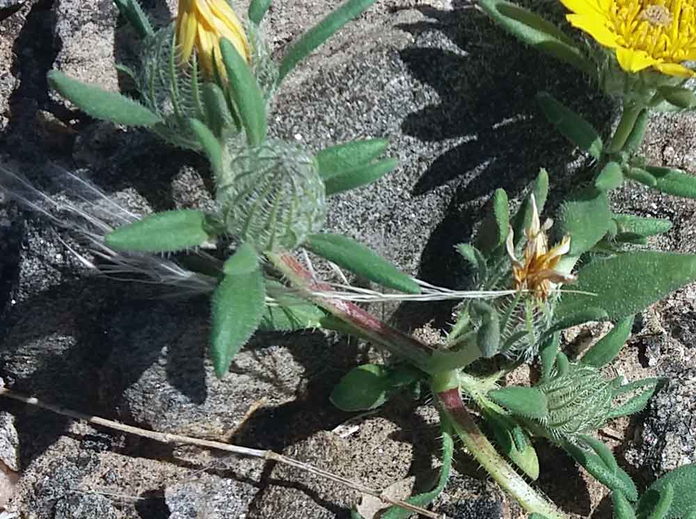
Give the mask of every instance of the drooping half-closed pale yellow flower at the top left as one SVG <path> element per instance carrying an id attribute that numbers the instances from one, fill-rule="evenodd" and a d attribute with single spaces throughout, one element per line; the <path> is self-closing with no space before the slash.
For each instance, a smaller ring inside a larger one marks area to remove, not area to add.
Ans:
<path id="1" fill-rule="evenodd" d="M 227 38 L 248 63 L 251 49 L 244 26 L 226 0 L 180 0 L 176 19 L 176 42 L 181 63 L 189 63 L 193 48 L 207 77 L 213 76 L 213 56 L 225 74 L 220 38 Z"/>

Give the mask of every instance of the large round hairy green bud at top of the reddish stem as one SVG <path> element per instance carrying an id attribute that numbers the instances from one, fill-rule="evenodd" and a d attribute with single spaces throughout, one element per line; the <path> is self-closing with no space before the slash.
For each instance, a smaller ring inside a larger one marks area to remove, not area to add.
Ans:
<path id="1" fill-rule="evenodd" d="M 269 140 L 232 153 L 218 183 L 228 231 L 258 250 L 296 248 L 326 221 L 317 163 L 293 143 Z"/>

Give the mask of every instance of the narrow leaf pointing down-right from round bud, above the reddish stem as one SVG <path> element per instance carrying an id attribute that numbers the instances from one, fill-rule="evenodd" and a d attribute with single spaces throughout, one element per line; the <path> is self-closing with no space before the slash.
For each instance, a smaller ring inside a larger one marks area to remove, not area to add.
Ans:
<path id="1" fill-rule="evenodd" d="M 351 272 L 384 287 L 420 294 L 418 283 L 354 239 L 340 234 L 311 234 L 303 245 Z"/>

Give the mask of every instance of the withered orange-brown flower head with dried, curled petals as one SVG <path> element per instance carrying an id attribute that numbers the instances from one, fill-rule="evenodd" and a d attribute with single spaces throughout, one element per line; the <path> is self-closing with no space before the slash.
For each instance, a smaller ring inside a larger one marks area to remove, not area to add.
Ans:
<path id="1" fill-rule="evenodd" d="M 516 290 L 531 290 L 535 295 L 546 301 L 551 290 L 560 283 L 569 283 L 576 280 L 575 276 L 554 270 L 561 257 L 570 250 L 570 236 L 566 234 L 557 246 L 548 250 L 546 231 L 551 229 L 553 221 L 546 220 L 541 226 L 539 211 L 534 195 L 532 201 L 532 222 L 525 231 L 527 244 L 524 249 L 523 261 L 519 262 L 515 257 L 514 234 L 512 228 L 507 233 L 505 248 L 512 262 L 512 277 Z"/>

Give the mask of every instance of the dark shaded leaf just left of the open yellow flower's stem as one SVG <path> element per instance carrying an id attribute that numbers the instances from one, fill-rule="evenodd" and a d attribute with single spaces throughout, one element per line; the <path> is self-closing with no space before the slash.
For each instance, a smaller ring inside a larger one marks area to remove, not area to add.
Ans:
<path id="1" fill-rule="evenodd" d="M 571 144 L 599 160 L 603 147 L 602 139 L 589 122 L 546 92 L 537 94 L 537 102 L 548 122 L 551 122 L 560 134 Z"/>

